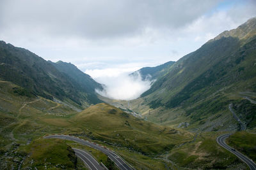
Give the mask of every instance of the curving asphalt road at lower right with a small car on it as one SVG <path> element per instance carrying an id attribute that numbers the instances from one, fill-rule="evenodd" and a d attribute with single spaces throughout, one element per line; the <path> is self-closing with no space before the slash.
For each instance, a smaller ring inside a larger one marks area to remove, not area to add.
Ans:
<path id="1" fill-rule="evenodd" d="M 230 146 L 228 146 L 225 143 L 225 139 L 227 139 L 231 134 L 223 134 L 221 136 L 219 136 L 216 141 L 217 143 L 222 146 L 223 148 L 225 148 L 226 150 L 228 150 L 229 152 L 232 152 L 234 155 L 236 155 L 237 157 L 239 157 L 239 159 L 243 160 L 243 162 L 245 162 L 250 169 L 252 170 L 256 170 L 256 164 L 249 159 L 248 157 L 244 156 L 242 153 L 237 152 L 237 150 L 234 150 L 234 148 L 231 148 Z"/>

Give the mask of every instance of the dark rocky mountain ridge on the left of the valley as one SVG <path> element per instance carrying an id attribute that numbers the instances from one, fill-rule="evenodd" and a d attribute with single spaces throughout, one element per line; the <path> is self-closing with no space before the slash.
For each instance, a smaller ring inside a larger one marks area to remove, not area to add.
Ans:
<path id="1" fill-rule="evenodd" d="M 99 88 L 100 85 L 90 76 L 79 73 L 84 80 L 76 81 L 73 72 L 67 74 L 55 66 L 29 50 L 0 41 L 1 80 L 12 81 L 35 96 L 62 101 L 76 108 L 100 103 L 93 91 L 94 86 Z M 83 81 L 88 83 L 81 85 Z"/>

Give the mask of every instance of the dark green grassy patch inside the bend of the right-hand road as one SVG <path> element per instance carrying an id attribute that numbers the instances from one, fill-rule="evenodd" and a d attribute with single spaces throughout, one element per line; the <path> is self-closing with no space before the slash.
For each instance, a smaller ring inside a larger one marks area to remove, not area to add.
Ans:
<path id="1" fill-rule="evenodd" d="M 236 148 L 239 152 L 244 153 L 254 162 L 256 161 L 256 134 L 248 132 L 236 132 L 228 139 L 228 145 Z"/>

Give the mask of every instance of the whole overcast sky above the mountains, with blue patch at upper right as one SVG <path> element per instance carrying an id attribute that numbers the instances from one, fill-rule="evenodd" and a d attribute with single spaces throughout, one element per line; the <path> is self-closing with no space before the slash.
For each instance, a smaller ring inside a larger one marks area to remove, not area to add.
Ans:
<path id="1" fill-rule="evenodd" d="M 255 9 L 253 0 L 1 0 L 0 39 L 99 77 L 177 60 Z"/>

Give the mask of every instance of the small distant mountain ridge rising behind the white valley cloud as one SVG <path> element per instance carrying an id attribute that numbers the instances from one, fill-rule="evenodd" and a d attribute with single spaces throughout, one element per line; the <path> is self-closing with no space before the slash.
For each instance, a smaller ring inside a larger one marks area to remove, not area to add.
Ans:
<path id="1" fill-rule="evenodd" d="M 156 67 L 143 67 L 138 71 L 131 73 L 130 75 L 137 76 L 137 73 L 140 73 L 142 80 L 155 80 L 163 76 L 166 72 L 168 72 L 168 68 L 172 66 L 174 63 L 174 61 L 169 61 Z"/>

